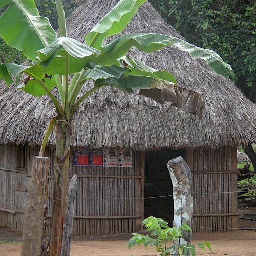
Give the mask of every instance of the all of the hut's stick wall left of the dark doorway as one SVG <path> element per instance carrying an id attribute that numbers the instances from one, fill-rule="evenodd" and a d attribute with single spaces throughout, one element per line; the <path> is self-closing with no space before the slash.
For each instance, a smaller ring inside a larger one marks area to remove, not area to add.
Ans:
<path id="1" fill-rule="evenodd" d="M 32 159 L 38 148 L 27 147 L 25 168 L 17 169 L 17 146 L 0 146 L 0 226 L 22 230 Z M 49 196 L 54 180 L 54 151 L 49 170 Z M 78 192 L 75 205 L 74 234 L 114 234 L 139 231 L 144 212 L 142 169 L 144 154 L 134 152 L 132 167 L 74 166 L 70 156 L 70 175 L 77 174 Z M 1 171 L 2 170 L 2 171 Z M 27 171 L 27 173 L 26 173 Z M 140 198 L 140 199 L 135 199 Z M 6 212 L 6 209 L 11 212 Z M 50 227 L 51 201 L 48 201 Z"/>

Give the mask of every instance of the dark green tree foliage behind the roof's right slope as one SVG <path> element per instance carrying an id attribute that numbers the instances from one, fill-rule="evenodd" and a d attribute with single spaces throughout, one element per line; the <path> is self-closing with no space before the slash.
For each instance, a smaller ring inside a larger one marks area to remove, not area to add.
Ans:
<path id="1" fill-rule="evenodd" d="M 151 0 L 189 42 L 215 50 L 230 63 L 227 77 L 256 102 L 255 0 Z"/>

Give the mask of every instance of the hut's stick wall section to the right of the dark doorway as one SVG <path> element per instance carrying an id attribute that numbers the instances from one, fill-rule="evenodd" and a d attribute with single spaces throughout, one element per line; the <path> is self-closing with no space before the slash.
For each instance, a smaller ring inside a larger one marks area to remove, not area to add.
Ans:
<path id="1" fill-rule="evenodd" d="M 194 231 L 237 228 L 237 150 L 231 147 L 186 151 L 193 173 Z"/>

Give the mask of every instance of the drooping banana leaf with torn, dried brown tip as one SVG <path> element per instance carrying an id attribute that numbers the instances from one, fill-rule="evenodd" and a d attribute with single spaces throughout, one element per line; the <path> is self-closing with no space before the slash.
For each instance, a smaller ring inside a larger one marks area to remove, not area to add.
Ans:
<path id="1" fill-rule="evenodd" d="M 139 94 L 149 97 L 161 104 L 172 102 L 173 106 L 186 110 L 200 118 L 204 109 L 201 95 L 193 90 L 179 86 L 175 77 L 167 71 L 155 70 L 131 56 L 118 59 L 116 65 L 103 66 L 90 63 L 91 69 L 85 76 L 96 80 L 96 86 L 109 85 L 124 92 L 134 93 L 133 89 L 140 89 Z M 173 83 L 175 81 L 175 83 Z M 186 104 L 189 102 L 188 104 Z"/>

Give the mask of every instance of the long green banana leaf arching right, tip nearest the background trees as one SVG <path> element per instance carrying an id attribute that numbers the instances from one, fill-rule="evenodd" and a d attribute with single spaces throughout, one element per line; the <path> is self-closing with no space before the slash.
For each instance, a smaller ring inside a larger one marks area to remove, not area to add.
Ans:
<path id="1" fill-rule="evenodd" d="M 98 63 L 113 65 L 116 59 L 122 57 L 133 46 L 144 52 L 153 52 L 165 46 L 175 45 L 180 50 L 188 52 L 195 59 L 204 59 L 217 73 L 226 74 L 231 69 L 214 51 L 189 44 L 179 38 L 151 33 L 124 34 L 102 46 Z"/>

